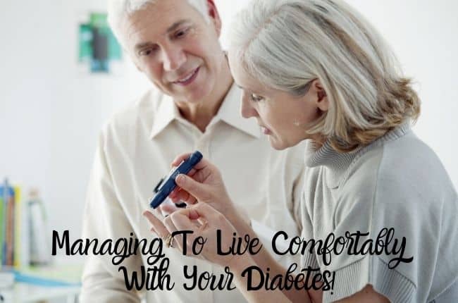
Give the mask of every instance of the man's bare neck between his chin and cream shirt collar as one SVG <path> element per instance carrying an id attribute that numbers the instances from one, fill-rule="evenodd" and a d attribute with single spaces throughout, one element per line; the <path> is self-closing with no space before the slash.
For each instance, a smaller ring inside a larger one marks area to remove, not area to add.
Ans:
<path id="1" fill-rule="evenodd" d="M 218 113 L 225 95 L 228 93 L 232 84 L 233 78 L 230 74 L 228 63 L 224 62 L 221 73 L 217 79 L 217 84 L 213 92 L 211 92 L 206 99 L 197 104 L 176 102 L 182 117 L 196 125 L 202 132 L 205 132 L 211 119 Z"/>

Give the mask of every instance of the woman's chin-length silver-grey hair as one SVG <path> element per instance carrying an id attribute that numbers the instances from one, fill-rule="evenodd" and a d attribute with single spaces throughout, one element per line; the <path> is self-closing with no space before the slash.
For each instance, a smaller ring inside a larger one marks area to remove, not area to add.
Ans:
<path id="1" fill-rule="evenodd" d="M 254 0 L 233 22 L 230 51 L 266 87 L 299 96 L 320 80 L 330 108 L 307 132 L 342 152 L 419 116 L 388 44 L 343 1 Z"/>

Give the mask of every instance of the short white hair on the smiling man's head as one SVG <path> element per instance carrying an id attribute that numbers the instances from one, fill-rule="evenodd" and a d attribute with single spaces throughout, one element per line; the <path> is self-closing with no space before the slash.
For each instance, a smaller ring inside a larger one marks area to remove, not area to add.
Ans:
<path id="1" fill-rule="evenodd" d="M 125 37 L 121 28 L 125 18 L 157 1 L 167 0 L 108 0 L 108 23 L 123 47 L 125 47 Z M 210 22 L 206 0 L 187 0 L 187 2 L 202 14 L 207 23 Z"/>

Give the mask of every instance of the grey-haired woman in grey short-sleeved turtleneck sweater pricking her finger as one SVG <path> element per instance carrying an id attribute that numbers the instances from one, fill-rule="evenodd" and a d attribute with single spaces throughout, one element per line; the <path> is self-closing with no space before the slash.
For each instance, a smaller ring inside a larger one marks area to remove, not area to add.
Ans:
<path id="1" fill-rule="evenodd" d="M 372 244 L 385 239 L 386 246 L 366 253 L 330 249 L 328 259 L 319 249 L 304 253 L 301 267 L 320 268 L 318 283 L 329 287 L 249 291 L 245 268 L 258 266 L 271 277 L 287 270 L 264 248 L 216 254 L 217 229 L 222 247 L 230 247 L 233 233 L 255 235 L 205 160 L 178 176 L 180 189 L 171 194 L 174 202 L 194 205 L 163 221 L 145 213 L 152 230 L 161 237 L 193 230 L 187 245 L 206 237 L 199 256 L 229 266 L 251 302 L 458 302 L 457 192 L 438 157 L 411 131 L 419 98 L 376 30 L 341 1 L 256 0 L 237 16 L 228 60 L 244 92 L 242 116 L 256 118 L 273 148 L 309 140 L 302 237 L 374 240 L 384 230 L 386 237 Z M 391 251 L 389 242 L 395 242 Z M 173 241 L 178 249 L 183 243 L 180 236 Z M 262 283 L 260 274 L 249 278 Z"/>

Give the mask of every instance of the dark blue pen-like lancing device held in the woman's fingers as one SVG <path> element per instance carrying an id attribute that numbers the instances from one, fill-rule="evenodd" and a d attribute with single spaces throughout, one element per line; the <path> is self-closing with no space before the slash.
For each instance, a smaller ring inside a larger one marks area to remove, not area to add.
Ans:
<path id="1" fill-rule="evenodd" d="M 161 205 L 163 200 L 168 197 L 168 195 L 175 189 L 177 184 L 175 183 L 175 178 L 177 175 L 180 173 L 187 175 L 191 171 L 191 169 L 199 163 L 199 161 L 202 159 L 202 154 L 199 151 L 195 151 L 194 153 L 191 154 L 189 158 L 187 158 L 185 161 L 182 161 L 180 165 L 177 167 L 173 168 L 168 175 L 163 178 L 158 185 L 154 188 L 154 192 L 156 194 L 154 197 L 151 199 L 151 202 L 149 202 L 149 206 L 151 208 L 156 209 L 157 206 Z"/>

